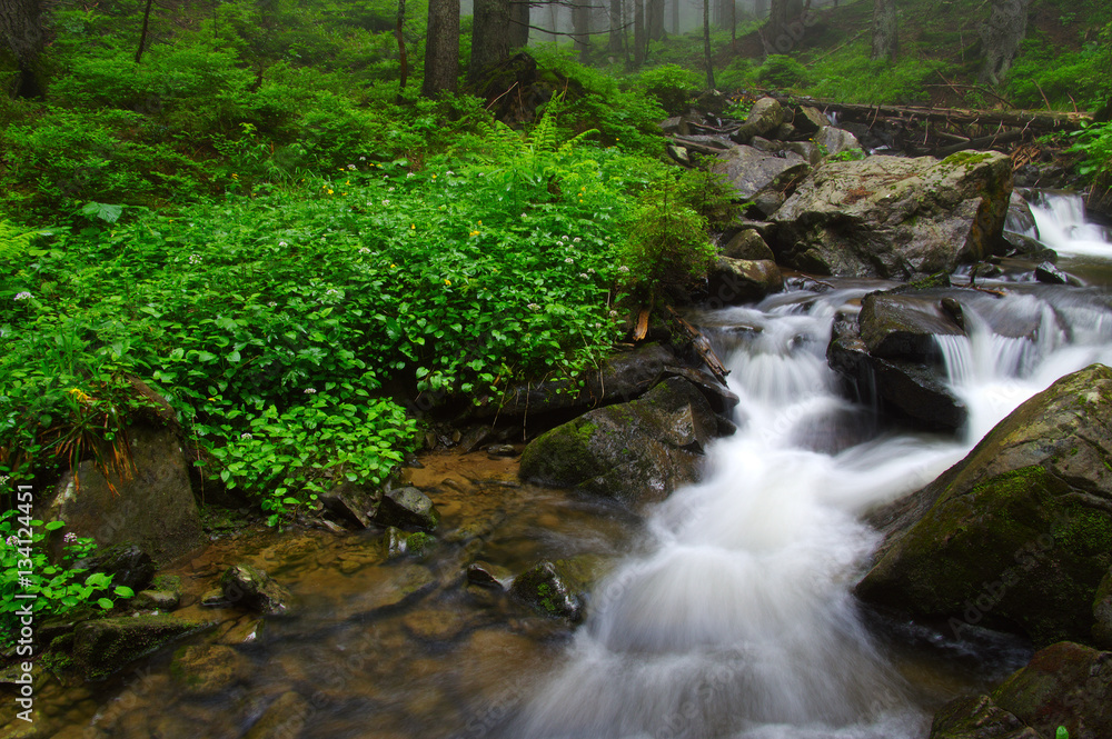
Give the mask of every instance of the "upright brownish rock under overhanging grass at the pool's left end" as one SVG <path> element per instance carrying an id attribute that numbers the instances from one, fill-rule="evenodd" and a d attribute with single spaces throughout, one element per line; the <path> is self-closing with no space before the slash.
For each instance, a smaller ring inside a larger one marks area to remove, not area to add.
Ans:
<path id="1" fill-rule="evenodd" d="M 133 473 L 113 473 L 109 485 L 92 461 L 81 462 L 58 483 L 42 518 L 66 521 L 67 532 L 101 547 L 135 542 L 166 562 L 202 540 L 186 453 L 173 426 L 132 426 L 129 440 Z"/>

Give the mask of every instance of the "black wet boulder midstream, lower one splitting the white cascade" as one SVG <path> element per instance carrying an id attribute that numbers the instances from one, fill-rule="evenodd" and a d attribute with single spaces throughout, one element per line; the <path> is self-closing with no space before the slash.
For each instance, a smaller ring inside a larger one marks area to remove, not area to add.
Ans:
<path id="1" fill-rule="evenodd" d="M 874 343 L 883 333 L 874 330 Z M 854 318 L 834 321 L 826 349 L 831 368 L 845 377 L 862 398 L 873 397 L 881 410 L 927 430 L 956 431 L 969 417 L 965 405 L 942 381 L 941 375 L 921 361 L 885 358 L 870 352 Z"/>

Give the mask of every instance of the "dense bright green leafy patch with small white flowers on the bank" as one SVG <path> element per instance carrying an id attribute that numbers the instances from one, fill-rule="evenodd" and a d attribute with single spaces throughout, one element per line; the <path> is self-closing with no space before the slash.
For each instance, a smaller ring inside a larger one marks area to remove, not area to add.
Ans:
<path id="1" fill-rule="evenodd" d="M 421 406 L 594 366 L 628 287 L 623 234 L 665 166 L 590 136 L 557 146 L 546 116 L 424 169 L 355 157 L 173 216 L 91 207 L 98 226 L 38 237 L 0 280 L 0 472 L 111 441 L 135 375 L 208 475 L 277 522 L 337 481 L 383 482 L 411 448 L 388 380 Z"/>

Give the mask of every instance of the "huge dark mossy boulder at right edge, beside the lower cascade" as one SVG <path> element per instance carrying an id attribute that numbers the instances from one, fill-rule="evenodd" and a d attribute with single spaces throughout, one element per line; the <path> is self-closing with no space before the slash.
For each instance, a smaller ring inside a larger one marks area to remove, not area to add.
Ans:
<path id="1" fill-rule="evenodd" d="M 1112 369 L 1066 376 L 961 462 L 874 520 L 886 537 L 856 587 L 923 618 L 1020 630 L 1037 645 L 1091 638 L 1112 565 Z"/>

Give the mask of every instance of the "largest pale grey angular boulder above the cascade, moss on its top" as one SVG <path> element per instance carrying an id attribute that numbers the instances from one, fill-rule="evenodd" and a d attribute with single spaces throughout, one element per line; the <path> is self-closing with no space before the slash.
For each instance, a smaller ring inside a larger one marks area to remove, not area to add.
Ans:
<path id="1" fill-rule="evenodd" d="M 776 261 L 841 277 L 952 272 L 996 247 L 1012 190 L 995 152 L 868 157 L 815 169 L 773 216 Z"/>

